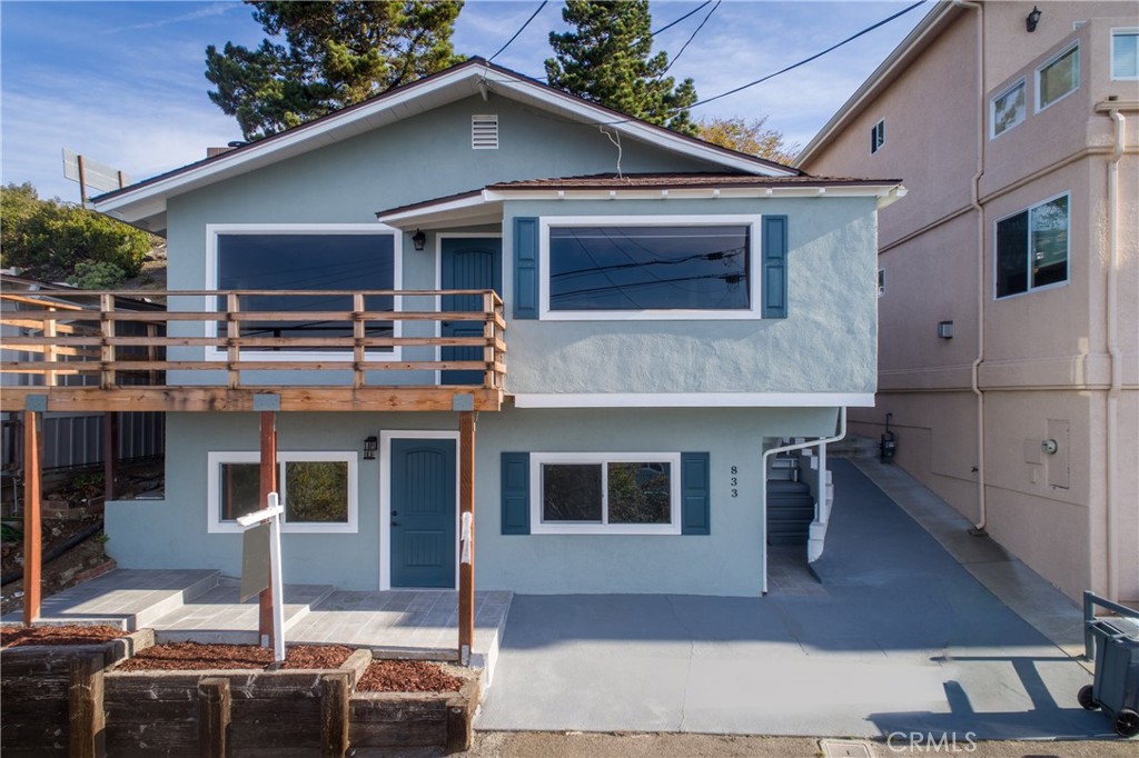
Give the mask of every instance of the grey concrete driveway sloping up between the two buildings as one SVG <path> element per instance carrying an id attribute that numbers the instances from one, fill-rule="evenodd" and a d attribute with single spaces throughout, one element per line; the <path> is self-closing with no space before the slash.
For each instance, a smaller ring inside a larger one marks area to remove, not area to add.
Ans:
<path id="1" fill-rule="evenodd" d="M 476 727 L 1114 736 L 1076 703 L 1084 666 L 852 463 L 833 471 L 821 585 L 788 567 L 755 599 L 515 596 Z"/>

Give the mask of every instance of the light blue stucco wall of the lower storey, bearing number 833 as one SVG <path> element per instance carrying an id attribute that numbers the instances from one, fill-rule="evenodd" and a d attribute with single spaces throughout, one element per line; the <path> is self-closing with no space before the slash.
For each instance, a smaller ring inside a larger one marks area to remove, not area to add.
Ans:
<path id="1" fill-rule="evenodd" d="M 476 586 L 531 593 L 674 592 L 756 595 L 764 437 L 834 430 L 836 409 L 607 410 L 483 413 L 476 432 Z M 123 568 L 240 571 L 240 535 L 206 533 L 210 451 L 257 448 L 252 413 L 171 413 L 166 500 L 114 502 L 107 551 Z M 359 451 L 382 430 L 456 429 L 454 414 L 284 413 L 281 451 Z M 710 536 L 501 535 L 500 456 L 509 452 L 703 452 L 711 454 Z M 359 460 L 357 534 L 282 535 L 288 583 L 379 586 L 379 472 Z M 739 468 L 738 497 L 730 468 Z"/>

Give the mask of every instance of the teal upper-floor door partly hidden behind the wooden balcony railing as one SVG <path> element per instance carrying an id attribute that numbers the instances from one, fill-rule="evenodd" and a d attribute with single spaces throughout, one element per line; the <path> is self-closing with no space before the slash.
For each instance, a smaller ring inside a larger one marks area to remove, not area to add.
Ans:
<path id="1" fill-rule="evenodd" d="M 493 289 L 502 294 L 502 240 L 482 237 L 444 237 L 440 261 L 443 289 Z M 449 295 L 444 311 L 482 311 L 478 295 Z M 474 321 L 444 321 L 443 337 L 482 337 L 483 326 Z M 478 347 L 444 347 L 443 361 L 482 361 Z M 444 385 L 481 385 L 478 371 L 443 371 Z"/>

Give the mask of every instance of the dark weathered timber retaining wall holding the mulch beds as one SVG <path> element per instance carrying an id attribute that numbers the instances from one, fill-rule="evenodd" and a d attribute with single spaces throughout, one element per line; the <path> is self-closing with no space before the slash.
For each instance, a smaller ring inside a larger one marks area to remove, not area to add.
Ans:
<path id="1" fill-rule="evenodd" d="M 100 645 L 5 651 L 5 758 L 343 758 L 350 747 L 470 747 L 480 697 L 470 669 L 448 667 L 464 679 L 458 693 L 359 693 L 355 684 L 372 661 L 367 650 L 338 669 L 104 670 L 126 652 Z"/>

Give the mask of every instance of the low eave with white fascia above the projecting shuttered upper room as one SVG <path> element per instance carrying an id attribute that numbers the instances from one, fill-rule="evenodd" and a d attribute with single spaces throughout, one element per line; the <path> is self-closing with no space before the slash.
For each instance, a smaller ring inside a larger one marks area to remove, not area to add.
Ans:
<path id="1" fill-rule="evenodd" d="M 822 198 L 872 197 L 882 209 L 906 197 L 901 184 L 853 184 L 814 187 L 686 187 L 649 188 L 582 188 L 582 189 L 485 189 L 462 198 L 424 204 L 413 208 L 379 212 L 377 220 L 402 230 L 444 229 L 461 224 L 501 223 L 502 204 L 508 200 L 679 200 L 731 198 Z"/>

